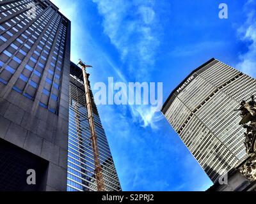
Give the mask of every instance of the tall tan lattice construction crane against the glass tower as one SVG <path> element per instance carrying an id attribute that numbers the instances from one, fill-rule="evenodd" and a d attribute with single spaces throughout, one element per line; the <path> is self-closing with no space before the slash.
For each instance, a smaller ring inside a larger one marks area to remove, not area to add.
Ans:
<path id="1" fill-rule="evenodd" d="M 95 164 L 95 179 L 97 181 L 97 189 L 98 191 L 105 191 L 102 168 L 100 165 L 99 149 L 97 145 L 97 135 L 96 135 L 94 119 L 93 119 L 90 86 L 89 86 L 89 81 L 86 73 L 86 68 L 92 68 L 92 66 L 84 64 L 84 62 L 81 61 L 81 59 L 79 59 L 78 65 L 81 66 L 83 71 L 84 91 L 85 91 L 85 99 L 86 99 L 85 102 L 86 102 L 86 108 L 88 112 L 88 121 L 89 121 L 89 126 L 91 131 L 92 149 L 93 149 L 93 157 L 94 157 L 94 164 Z"/>

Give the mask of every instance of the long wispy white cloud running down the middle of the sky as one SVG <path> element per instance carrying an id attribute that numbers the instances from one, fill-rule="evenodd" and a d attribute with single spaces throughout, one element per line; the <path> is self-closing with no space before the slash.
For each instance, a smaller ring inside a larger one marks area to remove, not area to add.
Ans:
<path id="1" fill-rule="evenodd" d="M 92 0 L 103 17 L 104 33 L 120 53 L 120 59 L 127 67 L 127 78 L 147 81 L 154 69 L 159 47 L 159 22 L 154 11 L 154 1 Z M 118 76 L 121 75 L 115 69 Z M 122 78 L 124 79 L 123 75 Z M 130 106 L 134 122 L 156 128 L 160 118 L 150 106 Z"/>

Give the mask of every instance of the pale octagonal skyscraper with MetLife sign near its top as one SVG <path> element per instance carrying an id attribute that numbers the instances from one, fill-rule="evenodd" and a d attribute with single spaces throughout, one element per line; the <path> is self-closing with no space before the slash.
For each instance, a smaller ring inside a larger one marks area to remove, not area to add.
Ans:
<path id="1" fill-rule="evenodd" d="M 176 87 L 162 112 L 212 182 L 246 156 L 235 109 L 255 94 L 256 80 L 211 59 Z"/>

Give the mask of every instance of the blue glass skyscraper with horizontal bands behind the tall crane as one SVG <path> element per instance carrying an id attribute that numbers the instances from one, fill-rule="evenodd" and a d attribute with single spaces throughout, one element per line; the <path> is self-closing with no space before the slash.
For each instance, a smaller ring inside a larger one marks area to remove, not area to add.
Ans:
<path id="1" fill-rule="evenodd" d="M 89 75 L 88 75 L 89 77 Z M 92 97 L 92 91 L 90 90 Z M 97 107 L 93 101 L 93 118 L 99 147 L 100 164 L 105 191 L 121 191 L 115 164 Z M 90 125 L 84 94 L 82 69 L 71 62 L 70 101 L 68 125 L 68 182 L 67 191 L 97 191 L 95 163 L 91 141 Z"/>

